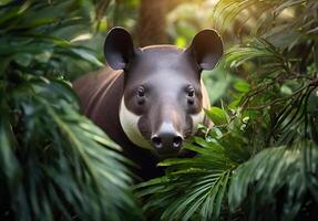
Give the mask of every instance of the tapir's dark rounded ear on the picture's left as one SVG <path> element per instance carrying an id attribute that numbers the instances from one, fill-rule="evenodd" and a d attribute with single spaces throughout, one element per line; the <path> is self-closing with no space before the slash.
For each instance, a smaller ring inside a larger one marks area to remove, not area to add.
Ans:
<path id="1" fill-rule="evenodd" d="M 104 55 L 113 70 L 124 70 L 135 54 L 131 34 L 123 28 L 113 28 L 104 43 Z"/>

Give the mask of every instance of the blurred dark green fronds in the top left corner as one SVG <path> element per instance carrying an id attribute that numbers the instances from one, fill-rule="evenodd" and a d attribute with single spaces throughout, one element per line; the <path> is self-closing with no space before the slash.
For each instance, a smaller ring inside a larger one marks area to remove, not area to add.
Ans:
<path id="1" fill-rule="evenodd" d="M 90 23 L 90 18 L 82 13 L 76 3 L 73 0 L 55 3 L 22 1 L 14 7 L 0 8 L 2 73 L 10 70 L 12 63 L 16 70 L 47 76 L 65 75 L 68 64 L 76 64 L 74 61 L 79 59 L 93 66 L 102 66 L 91 50 L 68 41 L 82 33 L 80 27 L 89 27 Z M 73 13 L 65 17 L 72 8 Z M 78 30 L 63 33 L 64 29 L 76 27 Z"/>

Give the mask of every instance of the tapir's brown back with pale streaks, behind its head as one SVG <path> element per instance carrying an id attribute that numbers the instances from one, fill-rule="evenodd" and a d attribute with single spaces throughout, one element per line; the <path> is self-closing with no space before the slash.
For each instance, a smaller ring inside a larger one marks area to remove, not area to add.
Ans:
<path id="1" fill-rule="evenodd" d="M 86 74 L 73 83 L 84 115 L 111 137 L 120 128 L 119 106 L 123 96 L 122 71 L 103 69 Z"/>

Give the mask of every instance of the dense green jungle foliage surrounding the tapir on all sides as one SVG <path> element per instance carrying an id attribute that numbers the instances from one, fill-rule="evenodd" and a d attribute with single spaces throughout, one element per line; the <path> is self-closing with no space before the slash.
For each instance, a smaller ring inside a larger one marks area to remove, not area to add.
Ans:
<path id="1" fill-rule="evenodd" d="M 71 86 L 115 25 L 140 46 L 206 28 L 225 44 L 197 156 L 134 188 Z M 317 0 L 1 0 L 0 220 L 317 220 Z"/>

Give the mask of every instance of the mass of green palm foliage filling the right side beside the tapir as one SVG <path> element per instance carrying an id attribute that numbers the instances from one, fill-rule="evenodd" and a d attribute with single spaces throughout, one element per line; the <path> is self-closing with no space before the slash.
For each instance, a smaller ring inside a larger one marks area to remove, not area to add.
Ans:
<path id="1" fill-rule="evenodd" d="M 230 88 L 228 105 L 206 110 L 216 125 L 203 129 L 205 139 L 194 137 L 186 146 L 195 158 L 166 160 L 161 164 L 167 167 L 165 177 L 137 186 L 148 214 L 162 220 L 317 218 L 317 1 L 301 0 L 215 6 L 223 25 L 246 11 L 255 19 L 257 9 L 250 38 L 228 49 L 220 63 L 245 81 Z"/>

